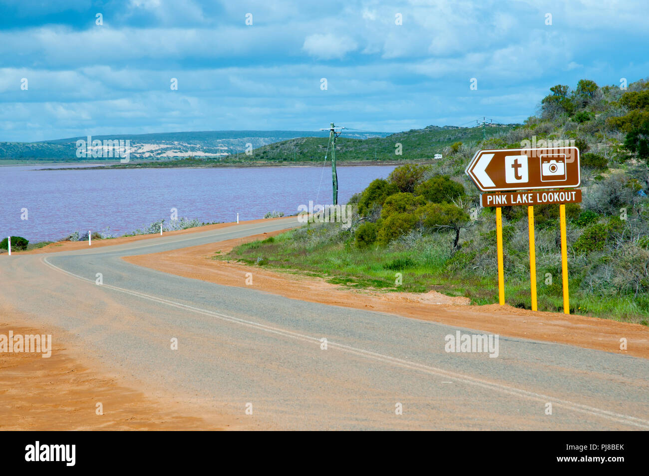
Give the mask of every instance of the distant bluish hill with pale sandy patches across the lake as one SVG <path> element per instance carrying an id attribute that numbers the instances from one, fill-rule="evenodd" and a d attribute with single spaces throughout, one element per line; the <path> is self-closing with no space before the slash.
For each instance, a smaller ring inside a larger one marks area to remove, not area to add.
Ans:
<path id="1" fill-rule="evenodd" d="M 243 153 L 246 144 L 253 148 L 297 137 L 326 137 L 328 131 L 200 131 L 162 132 L 157 134 L 121 134 L 92 136 L 92 140 L 130 140 L 133 160 L 184 157 L 227 157 Z M 365 139 L 387 136 L 387 132 L 346 132 L 348 137 Z M 77 157 L 77 140 L 86 137 L 42 142 L 0 142 L 0 158 L 13 160 L 83 161 Z M 93 160 L 97 160 L 94 158 Z"/>

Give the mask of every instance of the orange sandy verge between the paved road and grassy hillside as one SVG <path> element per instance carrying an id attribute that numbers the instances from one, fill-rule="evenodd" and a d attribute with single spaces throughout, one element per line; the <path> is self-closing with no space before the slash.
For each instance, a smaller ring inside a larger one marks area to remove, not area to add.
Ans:
<path id="1" fill-rule="evenodd" d="M 369 309 L 503 336 L 649 358 L 649 329 L 640 324 L 554 312 L 533 312 L 510 306 L 470 306 L 469 299 L 465 297 L 448 297 L 435 291 L 414 294 L 349 290 L 324 279 L 212 259 L 218 251 L 221 254 L 228 253 L 239 244 L 281 232 L 283 231 L 123 259 L 165 273 L 227 286 L 247 286 L 245 275 L 251 272 L 252 288 L 291 299 Z M 627 350 L 620 350 L 620 338 L 626 338 Z"/>

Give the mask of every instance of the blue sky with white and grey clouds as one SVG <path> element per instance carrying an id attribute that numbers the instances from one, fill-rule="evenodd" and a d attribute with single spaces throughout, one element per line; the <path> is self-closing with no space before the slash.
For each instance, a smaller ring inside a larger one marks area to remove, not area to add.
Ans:
<path id="1" fill-rule="evenodd" d="M 648 77 L 647 18 L 646 0 L 2 0 L 0 141 L 520 122 L 554 84 Z"/>

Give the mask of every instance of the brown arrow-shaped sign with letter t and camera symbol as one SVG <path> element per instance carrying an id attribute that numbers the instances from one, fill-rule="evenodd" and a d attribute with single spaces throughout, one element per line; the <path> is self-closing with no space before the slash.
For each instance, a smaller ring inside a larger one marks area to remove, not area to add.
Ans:
<path id="1" fill-rule="evenodd" d="M 581 182 L 577 147 L 478 151 L 465 173 L 482 192 L 572 188 Z"/>

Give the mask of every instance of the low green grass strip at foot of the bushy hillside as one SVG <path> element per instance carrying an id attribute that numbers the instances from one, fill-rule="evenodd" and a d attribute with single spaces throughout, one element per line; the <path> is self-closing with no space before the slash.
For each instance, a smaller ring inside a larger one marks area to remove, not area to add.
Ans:
<path id="1" fill-rule="evenodd" d="M 415 236 L 416 244 L 413 245 L 413 236 L 403 236 L 387 249 L 358 249 L 349 232 L 341 232 L 340 227 L 334 224 L 317 223 L 285 232 L 275 238 L 240 245 L 227 255 L 215 255 L 215 258 L 234 258 L 251 265 L 321 277 L 332 284 L 353 289 L 384 292 L 434 290 L 449 296 L 469 297 L 471 303 L 476 305 L 497 303 L 495 266 L 490 267 L 491 273 L 449 273 L 449 269 L 461 266 L 461 259 L 454 258 L 452 253 L 452 238 L 450 232 L 419 239 Z M 489 245 L 495 248 L 495 235 L 490 240 Z M 508 252 L 511 251 L 515 250 L 509 247 Z M 527 255 L 524 259 L 527 259 Z M 538 308 L 563 312 L 558 265 L 550 269 L 555 276 L 552 284 L 545 284 L 545 273 L 537 273 Z M 402 275 L 400 285 L 396 284 L 397 273 Z M 648 325 L 649 301 L 645 297 L 641 300 L 634 299 L 632 295 L 601 297 L 583 290 L 580 281 L 580 276 L 570 281 L 571 314 Z M 529 271 L 520 269 L 520 273 L 513 273 L 508 269 L 506 301 L 515 307 L 531 307 Z"/>

